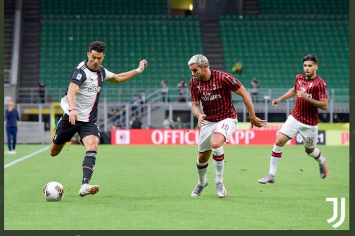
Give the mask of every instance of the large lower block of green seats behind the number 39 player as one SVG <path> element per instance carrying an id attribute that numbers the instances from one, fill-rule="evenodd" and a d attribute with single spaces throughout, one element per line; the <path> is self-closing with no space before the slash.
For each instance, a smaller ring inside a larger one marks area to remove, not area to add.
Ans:
<path id="1" fill-rule="evenodd" d="M 299 16 L 298 16 L 299 17 Z M 347 16 L 348 17 L 348 16 Z M 237 77 L 246 87 L 257 77 L 261 88 L 288 88 L 303 73 L 303 56 L 318 56 L 317 74 L 328 88 L 348 88 L 349 23 L 312 17 L 290 21 L 266 15 L 254 19 L 221 16 L 220 27 L 226 70 L 240 59 L 243 73 Z M 315 20 L 314 20 L 315 19 Z"/>

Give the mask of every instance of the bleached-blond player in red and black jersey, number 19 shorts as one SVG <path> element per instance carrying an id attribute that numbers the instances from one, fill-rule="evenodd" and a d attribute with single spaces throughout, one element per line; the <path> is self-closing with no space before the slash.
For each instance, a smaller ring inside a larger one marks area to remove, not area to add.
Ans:
<path id="1" fill-rule="evenodd" d="M 198 126 L 201 128 L 196 164 L 198 183 L 191 196 L 199 196 L 203 188 L 208 185 L 206 174 L 208 159 L 212 153 L 216 170 L 217 195 L 225 197 L 227 191 L 223 184 L 223 144 L 234 133 L 237 125 L 232 91 L 243 98 L 252 126 L 265 126 L 266 121 L 255 116 L 252 98 L 232 75 L 210 70 L 207 58 L 201 54 L 191 57 L 188 64 L 193 76 L 190 80 L 192 113 L 198 118 Z M 203 113 L 200 110 L 200 100 Z"/>

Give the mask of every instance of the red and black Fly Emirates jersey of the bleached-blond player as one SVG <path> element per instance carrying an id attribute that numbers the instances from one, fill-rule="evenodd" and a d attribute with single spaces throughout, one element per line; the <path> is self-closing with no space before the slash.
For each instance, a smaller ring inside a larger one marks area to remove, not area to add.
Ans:
<path id="1" fill-rule="evenodd" d="M 211 70 L 207 81 L 190 80 L 191 101 L 201 100 L 206 120 L 219 122 L 227 118 L 237 118 L 232 103 L 232 91 L 238 90 L 242 84 L 231 74 Z"/>

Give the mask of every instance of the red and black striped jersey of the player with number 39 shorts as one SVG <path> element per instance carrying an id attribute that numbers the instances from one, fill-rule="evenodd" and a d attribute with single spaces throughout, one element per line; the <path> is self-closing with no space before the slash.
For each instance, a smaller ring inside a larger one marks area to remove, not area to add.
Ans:
<path id="1" fill-rule="evenodd" d="M 295 78 L 295 89 L 297 91 L 303 91 L 306 96 L 314 100 L 328 98 L 327 84 L 319 76 L 309 80 L 306 79 L 306 75 L 304 74 L 297 75 Z M 295 106 L 291 115 L 303 124 L 318 124 L 318 108 L 300 97 L 296 97 Z"/>

